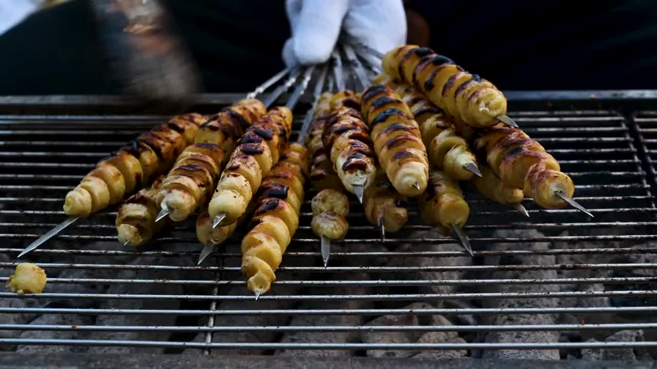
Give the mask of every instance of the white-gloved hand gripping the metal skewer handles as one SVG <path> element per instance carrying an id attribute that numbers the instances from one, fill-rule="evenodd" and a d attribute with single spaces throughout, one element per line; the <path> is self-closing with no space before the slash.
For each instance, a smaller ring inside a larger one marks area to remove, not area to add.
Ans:
<path id="1" fill-rule="evenodd" d="M 286 0 L 292 37 L 283 47 L 286 66 L 325 62 L 340 30 L 386 53 L 406 41 L 401 0 Z"/>

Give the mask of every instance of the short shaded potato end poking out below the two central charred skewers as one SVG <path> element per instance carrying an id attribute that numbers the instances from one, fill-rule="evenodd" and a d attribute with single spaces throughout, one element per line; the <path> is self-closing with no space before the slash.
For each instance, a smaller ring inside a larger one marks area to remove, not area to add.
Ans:
<path id="1" fill-rule="evenodd" d="M 383 226 L 390 232 L 400 230 L 409 219 L 404 196 L 395 190 L 383 171 L 378 171 L 374 183 L 365 190 L 363 206 L 371 225 L 380 227 L 379 222 L 383 221 Z"/>

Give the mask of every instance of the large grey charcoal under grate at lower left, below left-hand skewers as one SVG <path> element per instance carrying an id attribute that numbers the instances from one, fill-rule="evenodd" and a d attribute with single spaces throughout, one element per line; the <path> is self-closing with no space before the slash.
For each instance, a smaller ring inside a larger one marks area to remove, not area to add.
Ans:
<path id="1" fill-rule="evenodd" d="M 163 265 L 171 260 L 150 260 L 154 265 Z M 141 258 L 135 259 L 135 265 L 143 265 Z M 117 279 L 177 279 L 179 271 L 148 271 L 125 269 L 114 276 Z M 130 295 L 182 295 L 180 284 L 112 284 L 107 293 Z M 180 309 L 180 301 L 176 299 L 103 299 L 99 309 Z M 99 315 L 98 326 L 175 326 L 175 315 Z M 170 332 L 90 332 L 90 339 L 121 340 L 121 341 L 168 341 Z M 146 347 L 89 347 L 90 353 L 161 353 L 161 348 Z"/>

